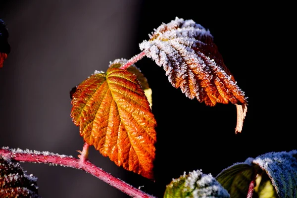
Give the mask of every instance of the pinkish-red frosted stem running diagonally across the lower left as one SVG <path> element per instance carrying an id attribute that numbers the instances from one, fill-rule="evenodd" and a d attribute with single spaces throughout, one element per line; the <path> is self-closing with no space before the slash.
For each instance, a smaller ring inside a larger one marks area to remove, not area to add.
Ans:
<path id="1" fill-rule="evenodd" d="M 89 146 L 84 145 L 87 149 Z M 83 152 L 82 151 L 82 155 Z M 32 151 L 32 150 L 21 150 L 21 149 L 9 149 L 7 147 L 0 148 L 0 155 L 4 158 L 10 158 L 14 161 L 19 162 L 33 162 L 33 163 L 45 163 L 45 164 L 55 164 L 66 167 L 71 167 L 79 170 L 83 170 L 91 175 L 99 178 L 103 182 L 109 184 L 110 186 L 122 191 L 130 197 L 135 198 L 156 198 L 154 196 L 148 195 L 145 192 L 125 183 L 124 181 L 113 177 L 109 173 L 103 171 L 101 168 L 97 167 L 90 160 L 86 159 L 82 162 L 82 158 L 78 159 L 72 156 L 59 155 L 55 153 L 49 153 L 47 151 Z M 86 155 L 84 155 L 86 156 Z"/>

